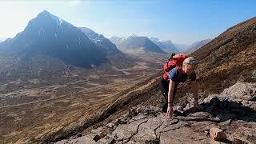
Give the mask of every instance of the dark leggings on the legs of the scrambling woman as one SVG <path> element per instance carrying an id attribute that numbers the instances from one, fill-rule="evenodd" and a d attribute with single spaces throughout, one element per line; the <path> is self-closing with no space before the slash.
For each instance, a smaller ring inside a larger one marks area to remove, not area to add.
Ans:
<path id="1" fill-rule="evenodd" d="M 166 82 L 166 80 L 162 78 L 161 81 L 160 81 L 160 84 L 159 84 L 159 88 L 162 92 L 162 95 L 166 99 L 166 104 L 168 103 L 169 82 L 170 81 Z M 177 91 L 177 84 L 175 84 L 174 93 L 172 94 L 173 95 L 173 102 L 174 102 L 174 97 L 175 97 L 176 91 Z"/>

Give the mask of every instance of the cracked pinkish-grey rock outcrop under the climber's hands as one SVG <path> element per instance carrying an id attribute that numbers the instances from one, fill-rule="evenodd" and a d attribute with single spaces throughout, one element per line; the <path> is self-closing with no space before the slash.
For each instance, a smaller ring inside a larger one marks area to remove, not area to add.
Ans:
<path id="1" fill-rule="evenodd" d="M 61 143 L 255 143 L 255 83 L 237 83 L 222 94 L 210 94 L 200 102 L 174 107 L 174 118 L 166 118 L 156 106 L 134 106 L 106 126 Z M 210 138 L 210 129 L 226 134 L 226 141 Z"/>

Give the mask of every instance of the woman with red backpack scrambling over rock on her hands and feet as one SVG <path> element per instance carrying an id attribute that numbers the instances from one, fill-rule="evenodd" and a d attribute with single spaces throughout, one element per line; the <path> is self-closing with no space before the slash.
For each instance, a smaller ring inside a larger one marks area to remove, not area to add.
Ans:
<path id="1" fill-rule="evenodd" d="M 160 82 L 160 90 L 166 98 L 166 102 L 162 106 L 162 112 L 167 112 L 168 118 L 171 118 L 174 114 L 173 102 L 178 83 L 185 82 L 187 79 L 190 79 L 192 84 L 194 106 L 198 107 L 198 82 L 196 82 L 196 74 L 194 72 L 196 66 L 195 59 L 186 56 L 186 54 L 172 54 L 168 62 L 166 62 Z"/>

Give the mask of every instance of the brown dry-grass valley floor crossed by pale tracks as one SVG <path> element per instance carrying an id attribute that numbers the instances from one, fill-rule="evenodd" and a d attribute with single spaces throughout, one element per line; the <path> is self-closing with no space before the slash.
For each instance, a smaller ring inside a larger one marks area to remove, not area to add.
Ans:
<path id="1" fill-rule="evenodd" d="M 122 90 L 137 86 L 138 82 L 149 78 L 161 67 L 153 61 L 138 64 L 124 69 L 130 73 L 128 75 L 118 71 L 106 73 L 101 67 L 96 67 L 86 78 L 78 79 L 76 74 L 66 74 L 66 78 L 75 77 L 75 80 L 2 93 L 1 106 L 18 106 L 0 108 L 0 141 L 40 142 L 73 133 L 73 130 L 108 110 L 120 99 Z M 31 79 L 30 82 L 38 80 Z"/>

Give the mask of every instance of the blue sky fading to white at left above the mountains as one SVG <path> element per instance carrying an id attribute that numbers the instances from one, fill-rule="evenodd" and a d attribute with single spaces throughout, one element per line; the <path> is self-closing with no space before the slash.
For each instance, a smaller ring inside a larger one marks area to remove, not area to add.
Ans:
<path id="1" fill-rule="evenodd" d="M 254 0 L 2 0 L 0 38 L 14 37 L 31 18 L 48 10 L 106 38 L 136 34 L 189 45 L 256 16 L 255 6 Z"/>

